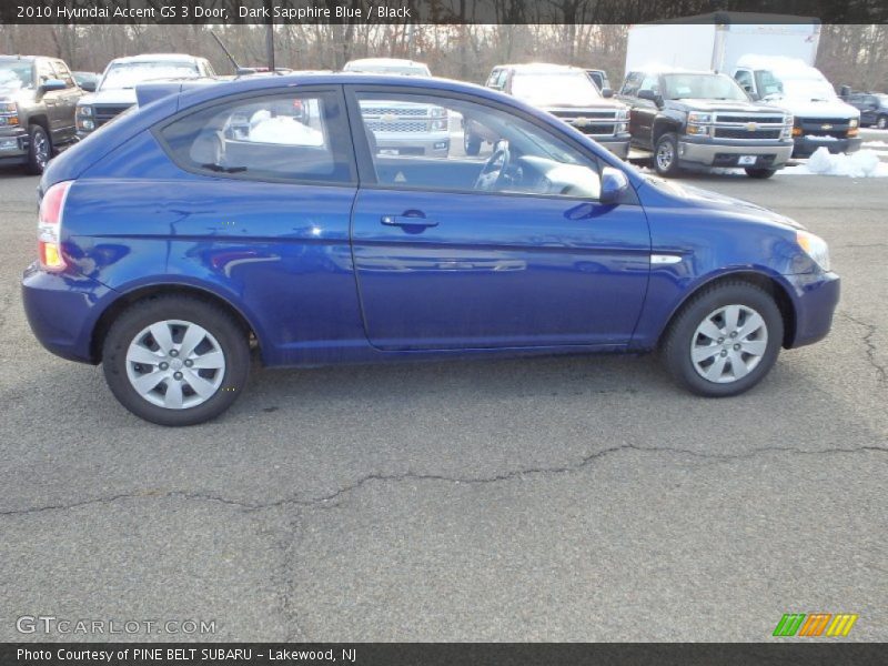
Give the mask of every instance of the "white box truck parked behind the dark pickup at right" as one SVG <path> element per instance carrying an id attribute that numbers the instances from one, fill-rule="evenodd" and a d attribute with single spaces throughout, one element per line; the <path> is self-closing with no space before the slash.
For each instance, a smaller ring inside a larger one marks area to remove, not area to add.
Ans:
<path id="1" fill-rule="evenodd" d="M 734 77 L 753 100 L 793 113 L 795 157 L 860 148 L 860 112 L 814 68 L 818 19 L 715 12 L 629 29 L 626 72 L 652 65 Z"/>

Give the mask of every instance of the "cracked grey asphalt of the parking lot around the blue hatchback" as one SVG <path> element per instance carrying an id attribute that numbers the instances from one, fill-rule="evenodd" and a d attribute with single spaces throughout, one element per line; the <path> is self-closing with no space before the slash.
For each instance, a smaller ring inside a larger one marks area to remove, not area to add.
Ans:
<path id="1" fill-rule="evenodd" d="M 887 640 L 881 179 L 688 179 L 806 223 L 831 335 L 724 401 L 652 357 L 258 371 L 219 421 L 131 416 L 21 309 L 34 178 L 0 170 L 0 640 L 16 619 L 215 620 L 216 640 Z M 107 636 L 110 638 L 110 636 Z M 127 636 L 113 636 L 115 639 Z"/>

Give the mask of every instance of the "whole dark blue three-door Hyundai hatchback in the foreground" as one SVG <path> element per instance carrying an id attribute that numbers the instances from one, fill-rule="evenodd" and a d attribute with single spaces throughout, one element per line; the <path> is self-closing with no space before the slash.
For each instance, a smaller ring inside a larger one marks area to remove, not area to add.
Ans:
<path id="1" fill-rule="evenodd" d="M 168 88 L 50 163 L 22 282 L 40 342 L 102 363 L 154 423 L 219 415 L 252 349 L 269 366 L 659 350 L 727 396 L 829 331 L 823 240 L 515 98 L 347 73 Z M 498 138 L 486 153 L 462 151 L 467 121 Z M 444 154 L 376 142 L 442 128 Z"/>

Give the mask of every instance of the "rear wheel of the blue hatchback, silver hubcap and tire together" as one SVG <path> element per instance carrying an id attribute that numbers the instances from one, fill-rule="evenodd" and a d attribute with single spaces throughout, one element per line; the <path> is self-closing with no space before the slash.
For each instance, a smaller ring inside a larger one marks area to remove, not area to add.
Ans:
<path id="1" fill-rule="evenodd" d="M 246 333 L 224 310 L 190 296 L 127 309 L 105 336 L 105 381 L 120 403 L 160 425 L 193 425 L 224 412 L 250 371 Z"/>

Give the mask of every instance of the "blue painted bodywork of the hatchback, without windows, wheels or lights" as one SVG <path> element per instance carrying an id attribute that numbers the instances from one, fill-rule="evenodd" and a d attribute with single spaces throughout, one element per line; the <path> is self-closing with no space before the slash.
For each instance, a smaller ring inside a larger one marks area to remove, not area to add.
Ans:
<path id="1" fill-rule="evenodd" d="M 185 286 L 238 311 L 268 365 L 645 351 L 702 285 L 750 272 L 773 280 L 791 303 L 787 346 L 828 332 L 838 278 L 801 251 L 797 225 L 785 218 L 658 184 L 573 128 L 488 89 L 371 81 L 468 94 L 531 117 L 624 171 L 637 203 L 191 173 L 151 131 L 178 111 L 289 85 L 371 83 L 329 74 L 199 87 L 119 119 L 50 163 L 41 191 L 75 181 L 62 238 L 71 265 L 62 274 L 26 271 L 26 311 L 38 339 L 64 357 L 97 362 L 97 325 L 119 299 Z M 436 225 L 381 224 L 405 213 Z M 682 261 L 652 268 L 650 253 Z"/>

